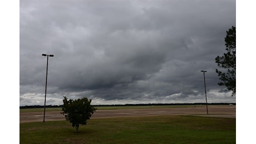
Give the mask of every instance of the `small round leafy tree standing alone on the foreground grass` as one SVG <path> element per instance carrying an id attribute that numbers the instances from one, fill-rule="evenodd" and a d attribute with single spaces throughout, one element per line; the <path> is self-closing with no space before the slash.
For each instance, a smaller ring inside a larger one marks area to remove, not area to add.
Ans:
<path id="1" fill-rule="evenodd" d="M 77 100 L 68 100 L 66 96 L 63 99 L 63 107 L 61 114 L 65 115 L 66 120 L 69 121 L 73 127 L 78 131 L 79 125 L 86 125 L 87 120 L 90 119 L 93 112 L 97 109 L 91 105 L 92 100 L 86 97 Z"/>

